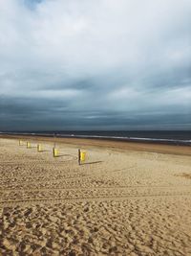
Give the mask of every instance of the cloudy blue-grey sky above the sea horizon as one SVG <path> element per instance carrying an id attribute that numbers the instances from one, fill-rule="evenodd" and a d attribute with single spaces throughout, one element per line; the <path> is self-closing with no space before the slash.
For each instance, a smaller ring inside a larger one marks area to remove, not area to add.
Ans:
<path id="1" fill-rule="evenodd" d="M 0 130 L 190 128 L 190 0 L 0 0 Z"/>

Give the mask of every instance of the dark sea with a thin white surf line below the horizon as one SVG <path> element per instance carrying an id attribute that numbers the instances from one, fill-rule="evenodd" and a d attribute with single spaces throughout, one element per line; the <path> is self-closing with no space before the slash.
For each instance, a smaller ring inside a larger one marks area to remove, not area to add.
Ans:
<path id="1" fill-rule="evenodd" d="M 191 146 L 191 130 L 0 131 L 1 134 L 84 138 Z"/>

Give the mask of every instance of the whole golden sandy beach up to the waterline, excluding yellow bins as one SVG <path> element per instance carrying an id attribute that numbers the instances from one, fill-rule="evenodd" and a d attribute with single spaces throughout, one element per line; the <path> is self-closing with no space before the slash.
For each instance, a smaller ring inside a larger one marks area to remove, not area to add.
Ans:
<path id="1" fill-rule="evenodd" d="M 191 255 L 191 147 L 32 140 L 0 139 L 0 255 Z"/>

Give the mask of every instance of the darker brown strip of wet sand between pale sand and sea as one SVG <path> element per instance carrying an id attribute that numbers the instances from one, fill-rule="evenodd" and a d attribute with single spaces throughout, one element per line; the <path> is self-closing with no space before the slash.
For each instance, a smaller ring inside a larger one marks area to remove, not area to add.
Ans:
<path id="1" fill-rule="evenodd" d="M 191 156 L 191 147 L 182 145 L 163 144 L 157 142 L 147 141 L 121 141 L 113 139 L 98 139 L 98 138 L 63 138 L 63 137 L 49 137 L 40 135 L 8 135 L 0 134 L 0 138 L 5 139 L 24 139 L 31 141 L 42 141 L 42 142 L 55 142 L 57 144 L 69 144 L 77 147 L 90 148 L 106 148 L 117 151 L 148 151 L 157 152 L 164 154 L 175 154 L 175 155 L 187 155 Z"/>

